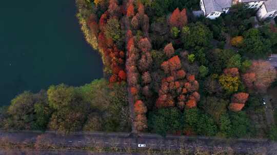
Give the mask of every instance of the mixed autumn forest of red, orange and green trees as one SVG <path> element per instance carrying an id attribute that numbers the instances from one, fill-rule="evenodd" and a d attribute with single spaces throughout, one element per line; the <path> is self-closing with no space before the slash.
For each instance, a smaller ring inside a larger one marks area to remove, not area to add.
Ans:
<path id="1" fill-rule="evenodd" d="M 139 132 L 277 140 L 261 104 L 276 90 L 266 58 L 276 52 L 277 27 L 255 28 L 255 10 L 236 5 L 210 20 L 193 16 L 198 0 L 76 0 L 76 7 L 105 79 L 24 92 L 1 109 L 0 128 L 128 132 L 133 104 Z"/>

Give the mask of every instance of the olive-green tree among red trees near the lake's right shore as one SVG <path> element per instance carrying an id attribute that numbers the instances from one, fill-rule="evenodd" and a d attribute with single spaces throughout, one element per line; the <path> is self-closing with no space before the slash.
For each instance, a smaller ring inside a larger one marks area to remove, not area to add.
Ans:
<path id="1" fill-rule="evenodd" d="M 113 41 L 120 40 L 120 23 L 116 18 L 110 18 L 105 26 L 105 36 L 111 38 Z"/>

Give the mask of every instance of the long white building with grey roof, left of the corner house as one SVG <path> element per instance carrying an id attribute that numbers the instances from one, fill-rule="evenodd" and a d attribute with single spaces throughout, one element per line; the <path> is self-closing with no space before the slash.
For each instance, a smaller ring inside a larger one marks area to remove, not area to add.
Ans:
<path id="1" fill-rule="evenodd" d="M 200 8 L 207 18 L 215 19 L 222 13 L 228 13 L 232 5 L 243 3 L 248 8 L 259 9 L 265 1 L 277 2 L 277 0 L 200 0 Z"/>

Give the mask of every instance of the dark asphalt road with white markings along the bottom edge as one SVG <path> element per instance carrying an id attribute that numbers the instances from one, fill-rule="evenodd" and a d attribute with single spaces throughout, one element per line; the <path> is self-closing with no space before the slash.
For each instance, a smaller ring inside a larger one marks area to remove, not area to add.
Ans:
<path id="1" fill-rule="evenodd" d="M 8 138 L 14 143 L 36 142 L 36 137 L 42 135 L 35 132 L 0 132 L 0 138 Z M 146 144 L 146 148 L 159 150 L 195 150 L 201 148 L 211 152 L 218 149 L 232 148 L 237 153 L 249 152 L 277 152 L 277 144 L 266 139 L 258 140 L 226 140 L 208 137 L 187 137 L 187 136 L 167 136 L 163 138 L 155 134 L 141 134 L 138 137 L 131 136 L 130 133 L 90 133 L 74 135 L 58 135 L 47 132 L 45 143 L 56 146 L 93 146 L 111 148 L 138 148 L 137 144 Z M 270 147 L 269 147 L 270 146 Z"/>

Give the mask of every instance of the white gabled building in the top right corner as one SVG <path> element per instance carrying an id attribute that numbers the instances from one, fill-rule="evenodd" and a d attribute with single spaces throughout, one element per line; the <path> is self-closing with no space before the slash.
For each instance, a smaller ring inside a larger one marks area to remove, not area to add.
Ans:
<path id="1" fill-rule="evenodd" d="M 277 0 L 267 0 L 258 10 L 257 16 L 260 20 L 275 18 L 277 16 Z"/>

